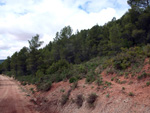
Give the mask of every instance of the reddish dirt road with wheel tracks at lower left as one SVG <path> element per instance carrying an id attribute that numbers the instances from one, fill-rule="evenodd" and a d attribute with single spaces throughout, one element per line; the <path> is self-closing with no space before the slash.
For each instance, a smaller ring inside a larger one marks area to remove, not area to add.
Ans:
<path id="1" fill-rule="evenodd" d="M 0 75 L 0 113 L 37 113 L 27 94 L 12 79 Z"/>

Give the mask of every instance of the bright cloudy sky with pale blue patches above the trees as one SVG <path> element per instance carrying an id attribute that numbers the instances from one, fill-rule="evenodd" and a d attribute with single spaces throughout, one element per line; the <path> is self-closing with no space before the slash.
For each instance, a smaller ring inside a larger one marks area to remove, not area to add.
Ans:
<path id="1" fill-rule="evenodd" d="M 119 19 L 127 0 L 0 0 L 0 59 L 6 59 L 36 34 L 43 47 L 65 26 L 77 30 Z"/>

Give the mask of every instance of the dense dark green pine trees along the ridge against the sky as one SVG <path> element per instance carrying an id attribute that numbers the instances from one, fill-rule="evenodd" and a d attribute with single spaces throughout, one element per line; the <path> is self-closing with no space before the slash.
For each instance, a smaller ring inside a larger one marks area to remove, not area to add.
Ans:
<path id="1" fill-rule="evenodd" d="M 131 9 L 120 19 L 113 18 L 103 26 L 95 25 L 75 34 L 70 26 L 66 26 L 42 49 L 38 49 L 43 43 L 39 41 L 39 35 L 32 37 L 29 48 L 23 47 L 0 65 L 0 73 L 43 80 L 46 75 L 63 73 L 72 65 L 97 56 L 114 56 L 122 48 L 150 43 L 149 0 L 128 0 L 128 4 Z"/>

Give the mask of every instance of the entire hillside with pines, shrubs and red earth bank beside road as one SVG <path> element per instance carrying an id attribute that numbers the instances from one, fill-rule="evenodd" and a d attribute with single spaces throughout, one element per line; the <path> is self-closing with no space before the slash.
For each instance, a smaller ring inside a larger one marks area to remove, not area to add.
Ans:
<path id="1" fill-rule="evenodd" d="M 66 26 L 41 49 L 37 34 L 0 73 L 27 88 L 42 113 L 149 113 L 150 4 L 128 4 L 120 19 L 75 34 Z"/>

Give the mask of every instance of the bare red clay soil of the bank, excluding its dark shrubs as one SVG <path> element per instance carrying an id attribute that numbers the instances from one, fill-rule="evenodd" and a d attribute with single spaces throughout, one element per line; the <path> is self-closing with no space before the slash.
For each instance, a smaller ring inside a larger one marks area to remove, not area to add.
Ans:
<path id="1" fill-rule="evenodd" d="M 150 73 L 149 67 L 150 65 L 146 64 L 142 71 Z M 71 91 L 64 106 L 61 106 L 61 97 L 68 92 L 72 84 L 68 81 L 54 83 L 49 92 L 39 93 L 40 98 L 47 100 L 39 102 L 39 110 L 43 113 L 150 113 L 150 86 L 146 85 L 150 81 L 149 77 L 138 80 L 137 76 L 131 77 L 130 74 L 129 78 L 117 76 L 120 81 L 118 83 L 115 80 L 111 81 L 115 74 L 107 75 L 104 70 L 101 75 L 104 82 L 111 82 L 112 85 L 103 87 L 95 83 L 85 84 L 85 79 L 82 79 L 78 82 L 78 87 Z M 92 108 L 87 103 L 88 95 L 91 93 L 98 95 Z M 75 103 L 79 94 L 84 97 L 80 108 Z"/>

